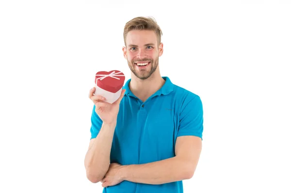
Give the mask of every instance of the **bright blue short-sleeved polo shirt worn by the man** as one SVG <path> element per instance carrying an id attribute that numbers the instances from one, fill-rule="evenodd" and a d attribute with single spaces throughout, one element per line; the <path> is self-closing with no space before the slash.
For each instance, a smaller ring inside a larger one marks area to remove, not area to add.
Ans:
<path id="1" fill-rule="evenodd" d="M 124 85 L 113 135 L 111 163 L 121 165 L 161 161 L 175 156 L 177 137 L 194 135 L 202 139 L 203 109 L 200 97 L 174 85 L 168 77 L 161 89 L 142 102 Z M 91 139 L 102 120 L 95 112 L 91 117 Z M 151 185 L 123 181 L 103 189 L 103 193 L 183 193 L 182 181 Z"/>

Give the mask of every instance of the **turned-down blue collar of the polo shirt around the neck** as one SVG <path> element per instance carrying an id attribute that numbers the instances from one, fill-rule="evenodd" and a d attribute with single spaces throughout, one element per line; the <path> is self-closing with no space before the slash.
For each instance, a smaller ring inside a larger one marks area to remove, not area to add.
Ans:
<path id="1" fill-rule="evenodd" d="M 164 85 L 162 86 L 161 89 L 159 89 L 156 93 L 154 93 L 151 97 L 154 96 L 159 96 L 161 94 L 163 95 L 167 95 L 169 93 L 171 93 L 173 91 L 174 85 L 171 82 L 170 78 L 167 76 L 162 76 L 162 78 L 165 80 Z M 131 81 L 131 78 L 125 83 L 125 85 L 123 86 L 123 89 L 126 89 L 124 95 L 128 95 L 128 96 L 132 96 L 132 97 L 136 97 L 134 96 L 134 94 L 131 92 L 131 90 L 129 89 L 129 82 Z"/>

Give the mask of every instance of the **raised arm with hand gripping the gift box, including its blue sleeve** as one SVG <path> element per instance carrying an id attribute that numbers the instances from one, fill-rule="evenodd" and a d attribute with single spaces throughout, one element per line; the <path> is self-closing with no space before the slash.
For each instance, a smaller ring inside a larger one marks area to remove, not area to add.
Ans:
<path id="1" fill-rule="evenodd" d="M 117 123 L 119 104 L 124 96 L 122 89 L 120 97 L 113 103 L 106 103 L 104 97 L 94 95 L 95 87 L 89 91 L 89 98 L 95 104 L 91 116 L 91 141 L 85 156 L 87 178 L 97 183 L 104 178 L 110 166 L 110 153 L 113 135 Z"/>

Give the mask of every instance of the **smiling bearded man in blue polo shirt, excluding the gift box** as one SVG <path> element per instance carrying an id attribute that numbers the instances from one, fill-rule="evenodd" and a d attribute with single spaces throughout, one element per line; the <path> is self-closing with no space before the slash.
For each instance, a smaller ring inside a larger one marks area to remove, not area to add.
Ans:
<path id="1" fill-rule="evenodd" d="M 103 193 L 183 193 L 202 148 L 200 97 L 161 77 L 162 30 L 154 19 L 136 17 L 124 28 L 124 58 L 131 79 L 113 104 L 95 96 L 87 178 Z"/>

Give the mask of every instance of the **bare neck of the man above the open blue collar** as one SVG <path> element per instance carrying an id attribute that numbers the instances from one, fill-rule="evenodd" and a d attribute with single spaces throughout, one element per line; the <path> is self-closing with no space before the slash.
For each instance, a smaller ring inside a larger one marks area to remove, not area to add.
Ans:
<path id="1" fill-rule="evenodd" d="M 141 80 L 131 73 L 129 89 L 136 97 L 145 102 L 148 97 L 161 89 L 164 83 L 165 80 L 158 72 L 153 73 L 145 80 Z"/>

